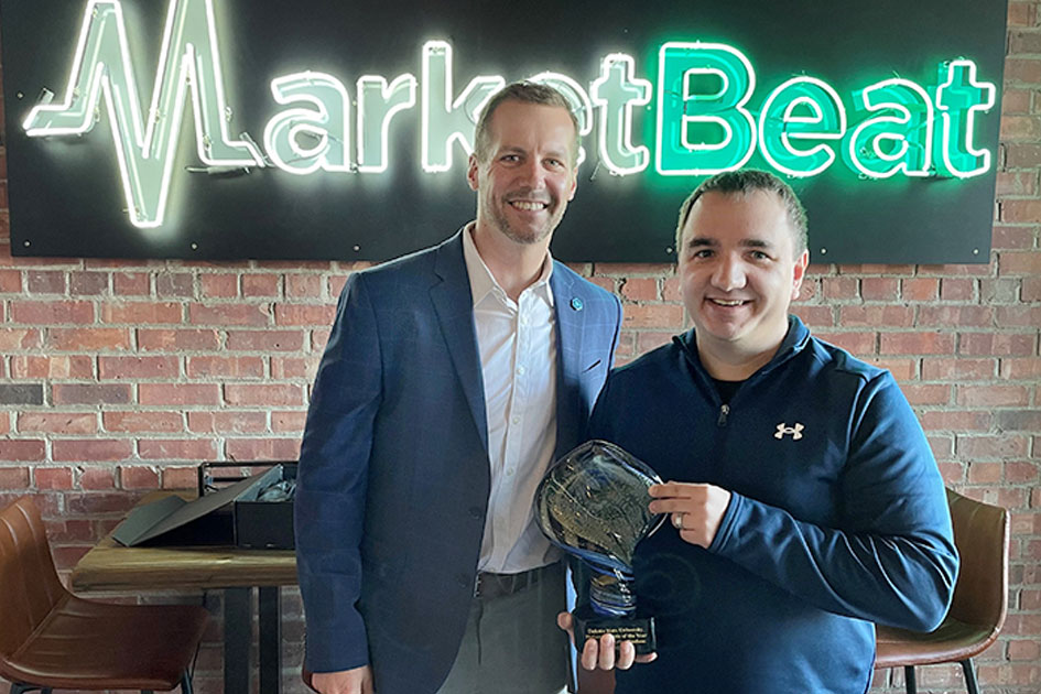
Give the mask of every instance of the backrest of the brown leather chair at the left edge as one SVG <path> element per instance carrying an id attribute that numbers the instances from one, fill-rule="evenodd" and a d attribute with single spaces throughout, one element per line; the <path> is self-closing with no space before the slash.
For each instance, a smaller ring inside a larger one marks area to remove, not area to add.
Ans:
<path id="1" fill-rule="evenodd" d="M 65 594 L 40 511 L 22 497 L 0 511 L 0 659 L 10 658 Z"/>

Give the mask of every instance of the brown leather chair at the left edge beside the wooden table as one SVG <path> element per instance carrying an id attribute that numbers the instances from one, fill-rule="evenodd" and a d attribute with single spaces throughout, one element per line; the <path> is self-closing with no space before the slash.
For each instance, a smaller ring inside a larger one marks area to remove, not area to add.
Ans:
<path id="1" fill-rule="evenodd" d="M 54 570 L 40 511 L 0 511 L 0 676 L 11 694 L 52 688 L 173 690 L 206 627 L 199 606 L 113 605 L 76 597 Z"/>

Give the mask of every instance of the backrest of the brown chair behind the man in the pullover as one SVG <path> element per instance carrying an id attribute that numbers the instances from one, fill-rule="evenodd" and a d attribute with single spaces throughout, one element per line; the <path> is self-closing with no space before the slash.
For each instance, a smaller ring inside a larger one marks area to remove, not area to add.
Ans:
<path id="1" fill-rule="evenodd" d="M 1008 609 L 1008 511 L 951 489 L 947 503 L 962 559 L 951 616 L 989 627 L 995 638 Z"/>

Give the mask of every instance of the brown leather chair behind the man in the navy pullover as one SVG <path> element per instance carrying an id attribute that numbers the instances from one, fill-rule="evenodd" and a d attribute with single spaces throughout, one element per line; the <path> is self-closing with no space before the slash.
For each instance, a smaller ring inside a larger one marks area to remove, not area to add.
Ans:
<path id="1" fill-rule="evenodd" d="M 951 610 L 930 633 L 877 628 L 875 669 L 903 666 L 908 694 L 917 692 L 917 665 L 954 662 L 968 692 L 978 694 L 972 659 L 998 638 L 1008 609 L 1008 511 L 950 489 L 947 502 L 962 557 Z"/>

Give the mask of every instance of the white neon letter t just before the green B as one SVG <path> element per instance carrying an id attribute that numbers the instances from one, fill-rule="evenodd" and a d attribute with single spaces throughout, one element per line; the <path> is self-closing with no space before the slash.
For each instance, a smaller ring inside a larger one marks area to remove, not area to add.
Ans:
<path id="1" fill-rule="evenodd" d="M 631 56 L 611 53 L 600 63 L 600 76 L 590 88 L 593 102 L 600 110 L 600 160 L 620 176 L 639 173 L 650 164 L 649 150 L 632 144 L 632 109 L 651 100 L 651 83 L 637 78 L 635 71 Z"/>

